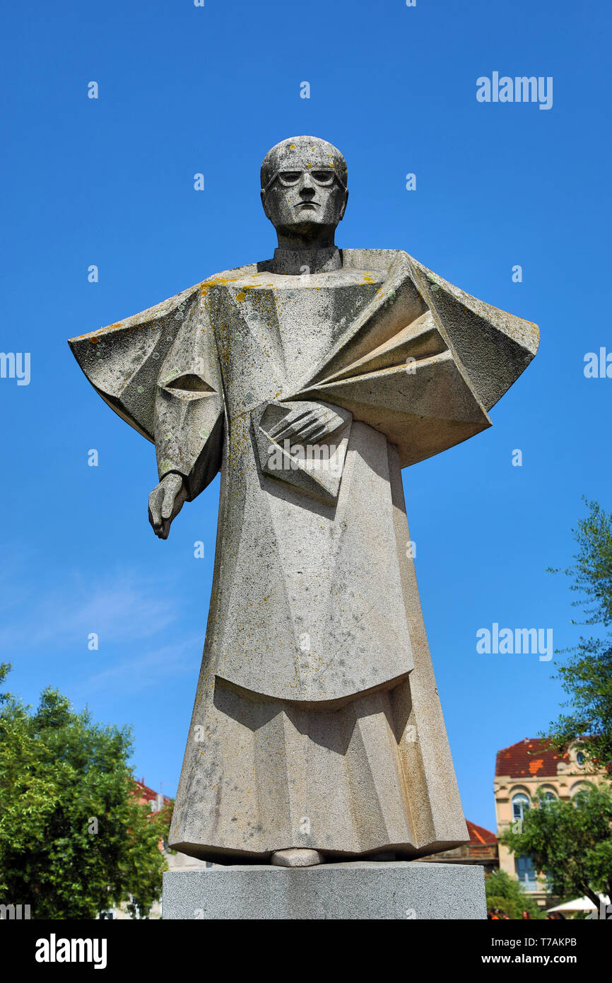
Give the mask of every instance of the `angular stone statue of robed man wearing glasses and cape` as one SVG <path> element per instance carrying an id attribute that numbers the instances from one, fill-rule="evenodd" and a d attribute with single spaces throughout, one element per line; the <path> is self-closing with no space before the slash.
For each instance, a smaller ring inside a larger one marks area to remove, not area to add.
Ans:
<path id="1" fill-rule="evenodd" d="M 335 146 L 273 146 L 272 260 L 70 342 L 155 444 L 157 536 L 221 471 L 170 834 L 221 863 L 410 859 L 468 840 L 401 469 L 490 426 L 537 329 L 407 253 L 338 249 L 347 198 Z"/>

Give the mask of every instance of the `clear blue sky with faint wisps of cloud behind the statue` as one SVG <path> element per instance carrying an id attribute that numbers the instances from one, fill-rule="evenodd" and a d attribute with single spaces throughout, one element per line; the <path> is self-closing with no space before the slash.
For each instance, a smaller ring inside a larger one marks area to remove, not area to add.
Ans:
<path id="1" fill-rule="evenodd" d="M 561 693 L 553 663 L 478 655 L 475 632 L 552 628 L 555 647 L 570 644 L 572 595 L 545 568 L 570 562 L 583 494 L 612 508 L 612 378 L 584 377 L 585 353 L 612 352 L 610 20 L 569 0 L 5 10 L 0 349 L 31 358 L 28 385 L 0 378 L 0 648 L 13 690 L 35 702 L 56 686 L 97 720 L 134 724 L 136 774 L 176 791 L 218 479 L 158 541 L 153 447 L 95 395 L 66 339 L 270 256 L 260 160 L 285 137 L 320 136 L 349 165 L 338 245 L 405 249 L 541 329 L 493 428 L 404 472 L 465 811 L 494 828 L 495 753 L 544 728 Z M 476 79 L 495 71 L 552 77 L 552 108 L 477 102 Z"/>

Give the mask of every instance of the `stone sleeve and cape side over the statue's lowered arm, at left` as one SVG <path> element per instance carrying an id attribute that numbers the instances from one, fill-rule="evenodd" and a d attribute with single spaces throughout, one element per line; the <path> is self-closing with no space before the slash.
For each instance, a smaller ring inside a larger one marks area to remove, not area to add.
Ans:
<path id="1" fill-rule="evenodd" d="M 160 479 L 182 475 L 195 498 L 221 466 L 224 418 L 200 285 L 69 344 L 102 399 L 155 443 Z"/>

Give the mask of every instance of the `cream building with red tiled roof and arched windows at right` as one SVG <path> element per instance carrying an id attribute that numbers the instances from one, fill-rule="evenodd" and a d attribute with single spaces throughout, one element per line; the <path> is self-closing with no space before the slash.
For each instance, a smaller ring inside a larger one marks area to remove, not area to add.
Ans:
<path id="1" fill-rule="evenodd" d="M 526 737 L 518 744 L 511 744 L 497 752 L 495 765 L 495 814 L 497 835 L 520 823 L 528 809 L 536 808 L 537 788 L 542 789 L 541 799 L 569 801 L 586 781 L 601 781 L 603 773 L 593 770 L 584 758 L 580 744 L 559 755 L 546 750 L 545 742 L 537 737 Z M 500 870 L 516 877 L 523 890 L 534 898 L 540 907 L 548 907 L 552 899 L 547 891 L 546 878 L 537 877 L 529 857 L 517 857 L 507 846 L 499 843 Z"/>

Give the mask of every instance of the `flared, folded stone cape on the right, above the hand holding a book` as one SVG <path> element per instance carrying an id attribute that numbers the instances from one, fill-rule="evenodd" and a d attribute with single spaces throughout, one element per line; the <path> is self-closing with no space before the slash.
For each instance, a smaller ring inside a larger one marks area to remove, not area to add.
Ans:
<path id="1" fill-rule="evenodd" d="M 397 252 L 371 302 L 288 399 L 320 399 L 385 434 L 407 467 L 491 426 L 529 365 L 535 324 Z"/>

